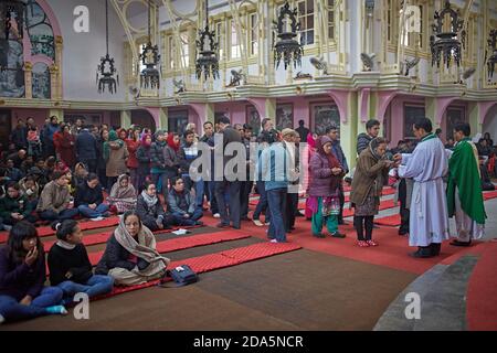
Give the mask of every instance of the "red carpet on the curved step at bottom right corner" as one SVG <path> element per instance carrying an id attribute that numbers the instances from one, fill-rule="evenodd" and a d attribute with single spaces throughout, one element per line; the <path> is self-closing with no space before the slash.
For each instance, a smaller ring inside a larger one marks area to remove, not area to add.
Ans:
<path id="1" fill-rule="evenodd" d="M 469 278 L 466 302 L 467 327 L 472 331 L 497 330 L 497 243 L 485 243 Z"/>

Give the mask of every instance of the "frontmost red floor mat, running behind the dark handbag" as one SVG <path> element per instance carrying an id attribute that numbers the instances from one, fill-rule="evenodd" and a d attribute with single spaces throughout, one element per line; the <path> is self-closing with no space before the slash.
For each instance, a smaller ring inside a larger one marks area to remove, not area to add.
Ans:
<path id="1" fill-rule="evenodd" d="M 248 245 L 245 247 L 241 247 L 237 249 L 225 250 L 216 254 L 209 254 L 204 256 L 193 257 L 180 261 L 173 261 L 169 265 L 169 268 L 175 268 L 181 265 L 190 266 L 195 272 L 202 274 L 207 271 L 212 271 L 215 269 L 221 269 L 230 266 L 235 266 L 240 264 L 244 264 L 247 261 L 256 260 L 263 257 L 269 257 L 274 255 L 279 255 L 284 253 L 289 253 L 294 250 L 298 250 L 300 246 L 295 244 L 271 244 L 271 243 L 261 243 Z M 106 296 L 102 296 L 96 299 L 104 299 L 113 296 L 117 296 L 120 293 L 152 287 L 159 284 L 159 280 L 154 280 L 139 286 L 131 287 L 115 287 L 112 293 Z"/>

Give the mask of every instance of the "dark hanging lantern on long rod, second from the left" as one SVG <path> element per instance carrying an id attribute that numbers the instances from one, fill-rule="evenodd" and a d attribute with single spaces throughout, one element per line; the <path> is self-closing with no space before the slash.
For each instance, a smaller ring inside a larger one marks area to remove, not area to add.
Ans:
<path id="1" fill-rule="evenodd" d="M 159 47 L 151 44 L 150 0 L 148 0 L 148 42 L 141 47 L 140 61 L 146 67 L 140 73 L 141 88 L 160 88 L 160 73 L 157 68 L 160 64 Z"/>

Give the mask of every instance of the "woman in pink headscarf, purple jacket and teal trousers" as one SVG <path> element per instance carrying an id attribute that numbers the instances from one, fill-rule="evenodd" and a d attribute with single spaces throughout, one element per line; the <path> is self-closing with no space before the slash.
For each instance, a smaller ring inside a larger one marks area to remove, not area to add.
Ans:
<path id="1" fill-rule="evenodd" d="M 332 141 L 328 136 L 319 138 L 316 153 L 310 157 L 308 205 L 313 212 L 313 235 L 324 238 L 322 225 L 326 224 L 332 237 L 343 238 L 338 232 L 340 213 L 339 186 L 343 170 L 332 152 Z"/>

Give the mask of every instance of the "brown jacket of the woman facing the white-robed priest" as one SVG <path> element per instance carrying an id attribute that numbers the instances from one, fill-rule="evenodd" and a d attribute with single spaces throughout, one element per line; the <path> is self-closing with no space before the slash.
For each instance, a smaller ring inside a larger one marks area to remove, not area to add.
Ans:
<path id="1" fill-rule="evenodd" d="M 370 148 L 364 149 L 357 160 L 352 179 L 350 202 L 362 205 L 368 196 L 380 196 L 384 182 L 388 180 L 388 160 L 377 160 Z"/>

